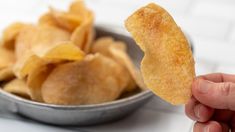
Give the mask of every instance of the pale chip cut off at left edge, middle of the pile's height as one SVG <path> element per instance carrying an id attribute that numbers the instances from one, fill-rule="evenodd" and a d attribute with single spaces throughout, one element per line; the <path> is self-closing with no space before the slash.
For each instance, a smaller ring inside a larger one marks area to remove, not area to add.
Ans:
<path id="1" fill-rule="evenodd" d="M 14 52 L 0 46 L 0 70 L 15 63 Z"/>

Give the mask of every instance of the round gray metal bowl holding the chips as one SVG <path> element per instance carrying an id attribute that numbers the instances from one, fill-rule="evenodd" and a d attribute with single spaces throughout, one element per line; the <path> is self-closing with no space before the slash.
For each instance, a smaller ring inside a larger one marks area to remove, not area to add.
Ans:
<path id="1" fill-rule="evenodd" d="M 109 27 L 96 27 L 96 36 L 112 36 L 126 42 L 128 53 L 137 67 L 143 53 L 135 42 Z M 149 90 L 112 102 L 95 105 L 62 106 L 38 103 L 7 93 L 0 88 L 0 108 L 54 125 L 94 125 L 117 120 L 131 114 L 151 97 Z"/>

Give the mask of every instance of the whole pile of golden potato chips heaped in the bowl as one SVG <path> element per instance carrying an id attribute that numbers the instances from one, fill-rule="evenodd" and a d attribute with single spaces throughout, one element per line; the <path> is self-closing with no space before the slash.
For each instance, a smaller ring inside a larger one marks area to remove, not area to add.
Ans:
<path id="1" fill-rule="evenodd" d="M 8 26 L 0 46 L 3 90 L 38 102 L 96 104 L 143 87 L 126 53 L 111 37 L 95 40 L 94 14 L 81 0 L 50 8 L 37 24 Z"/>

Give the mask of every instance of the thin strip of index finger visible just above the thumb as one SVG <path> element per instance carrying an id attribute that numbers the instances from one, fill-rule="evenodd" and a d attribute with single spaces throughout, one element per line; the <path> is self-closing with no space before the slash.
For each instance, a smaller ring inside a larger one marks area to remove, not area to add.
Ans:
<path id="1" fill-rule="evenodd" d="M 224 73 L 212 73 L 199 76 L 198 78 L 212 82 L 235 82 L 235 75 L 224 74 Z"/>

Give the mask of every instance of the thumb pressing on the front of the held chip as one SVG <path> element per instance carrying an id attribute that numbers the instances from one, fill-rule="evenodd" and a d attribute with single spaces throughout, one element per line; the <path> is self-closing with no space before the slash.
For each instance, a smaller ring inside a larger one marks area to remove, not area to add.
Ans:
<path id="1" fill-rule="evenodd" d="M 235 84 L 214 83 L 196 79 L 192 85 L 193 96 L 202 104 L 215 109 L 235 110 Z"/>

